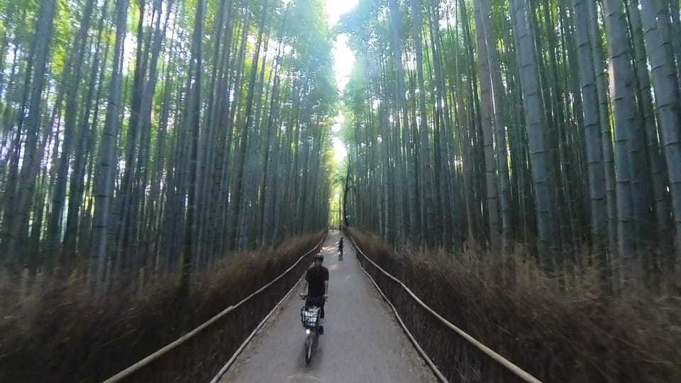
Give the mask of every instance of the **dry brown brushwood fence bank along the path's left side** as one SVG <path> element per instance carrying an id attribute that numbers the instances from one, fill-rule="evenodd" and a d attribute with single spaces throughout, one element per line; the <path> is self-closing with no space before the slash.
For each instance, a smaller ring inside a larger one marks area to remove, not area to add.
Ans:
<path id="1" fill-rule="evenodd" d="M 182 304 L 176 276 L 144 294 L 119 284 L 111 290 L 115 294 L 101 302 L 92 301 L 83 284 L 25 299 L 29 307 L 23 308 L 24 315 L 0 323 L 0 382 L 101 382 L 270 282 L 321 235 L 295 238 L 275 250 L 226 262 L 193 282 L 187 304 Z M 301 262 L 252 304 L 241 306 L 132 381 L 209 380 L 308 266 Z"/>

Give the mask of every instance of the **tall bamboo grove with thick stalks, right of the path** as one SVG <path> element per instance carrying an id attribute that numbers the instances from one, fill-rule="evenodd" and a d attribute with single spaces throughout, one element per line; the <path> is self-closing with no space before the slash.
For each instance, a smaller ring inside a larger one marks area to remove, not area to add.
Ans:
<path id="1" fill-rule="evenodd" d="M 679 1 L 367 0 L 338 33 L 358 57 L 346 224 L 482 248 L 511 282 L 519 253 L 677 279 Z"/>

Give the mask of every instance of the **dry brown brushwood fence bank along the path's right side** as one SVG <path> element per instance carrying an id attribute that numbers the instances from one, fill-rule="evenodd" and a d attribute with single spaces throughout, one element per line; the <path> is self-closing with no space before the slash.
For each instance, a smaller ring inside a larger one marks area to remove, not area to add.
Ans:
<path id="1" fill-rule="evenodd" d="M 584 276 L 563 289 L 527 265 L 521 283 L 509 288 L 500 283 L 493 262 L 463 265 L 442 251 L 396 254 L 375 235 L 353 229 L 350 235 L 374 262 L 455 326 L 544 382 L 681 382 L 677 298 L 633 287 L 626 296 L 603 297 L 597 283 Z M 364 265 L 382 280 L 382 289 L 392 292 L 419 343 L 451 381 L 514 380 L 492 372 L 494 363 L 429 319 L 368 262 Z"/>

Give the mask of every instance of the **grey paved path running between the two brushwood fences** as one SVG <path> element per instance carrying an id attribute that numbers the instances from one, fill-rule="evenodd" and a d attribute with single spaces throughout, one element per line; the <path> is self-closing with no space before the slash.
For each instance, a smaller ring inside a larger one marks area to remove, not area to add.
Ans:
<path id="1" fill-rule="evenodd" d="M 300 324 L 301 285 L 279 306 L 223 375 L 226 382 L 438 382 L 339 233 L 324 244 L 330 278 L 324 335 L 307 365 Z"/>

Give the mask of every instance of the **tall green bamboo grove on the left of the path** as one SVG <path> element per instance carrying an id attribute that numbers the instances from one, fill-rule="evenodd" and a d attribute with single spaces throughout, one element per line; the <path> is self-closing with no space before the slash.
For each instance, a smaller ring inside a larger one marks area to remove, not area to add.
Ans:
<path id="1" fill-rule="evenodd" d="M 5 272 L 185 276 L 326 226 L 320 0 L 0 1 Z"/>

